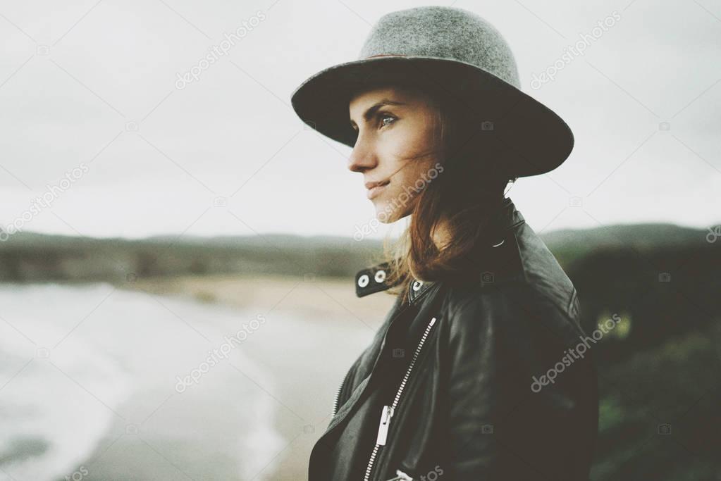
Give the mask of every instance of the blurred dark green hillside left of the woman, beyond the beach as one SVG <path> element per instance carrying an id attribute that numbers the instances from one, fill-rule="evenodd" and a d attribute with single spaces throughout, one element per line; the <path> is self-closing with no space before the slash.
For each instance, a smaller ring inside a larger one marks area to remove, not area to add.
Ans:
<path id="1" fill-rule="evenodd" d="M 0 281 L 107 280 L 182 274 L 345 277 L 381 251 L 377 240 L 300 235 L 141 240 L 17 233 L 0 243 Z"/>

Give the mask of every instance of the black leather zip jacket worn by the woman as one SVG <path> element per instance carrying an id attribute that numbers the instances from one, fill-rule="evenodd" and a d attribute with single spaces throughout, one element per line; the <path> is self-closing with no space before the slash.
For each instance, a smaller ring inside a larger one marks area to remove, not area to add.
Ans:
<path id="1" fill-rule="evenodd" d="M 578 295 L 510 199 L 499 213 L 468 275 L 397 299 L 341 383 L 309 480 L 588 480 L 598 390 Z M 388 289 L 388 268 L 359 271 L 356 294 Z"/>

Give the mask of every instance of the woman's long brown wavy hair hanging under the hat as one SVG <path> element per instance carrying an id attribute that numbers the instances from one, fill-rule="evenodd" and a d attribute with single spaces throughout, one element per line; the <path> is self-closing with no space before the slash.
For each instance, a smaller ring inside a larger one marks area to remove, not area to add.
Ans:
<path id="1" fill-rule="evenodd" d="M 376 86 L 389 86 L 377 84 Z M 394 81 L 397 89 L 422 94 L 433 112 L 430 151 L 409 161 L 431 155 L 437 159 L 435 177 L 423 179 L 410 223 L 397 240 L 384 238 L 383 253 L 375 262 L 388 262 L 386 277 L 391 295 L 406 302 L 410 281 L 457 279 L 469 269 L 467 260 L 490 232 L 491 216 L 505 199 L 505 187 L 517 177 L 501 168 L 503 145 L 493 138 L 492 120 L 464 104 L 462 94 L 444 86 L 417 81 Z M 496 157 L 496 158 L 495 158 Z M 439 249 L 434 229 L 444 222 L 448 241 Z"/>

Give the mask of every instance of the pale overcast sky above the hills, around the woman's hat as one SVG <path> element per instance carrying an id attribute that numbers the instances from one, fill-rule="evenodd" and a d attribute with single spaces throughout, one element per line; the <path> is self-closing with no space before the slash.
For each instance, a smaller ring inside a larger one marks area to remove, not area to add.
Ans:
<path id="1" fill-rule="evenodd" d="M 351 236 L 373 219 L 350 148 L 304 129 L 290 96 L 355 60 L 382 14 L 427 3 L 60 3 L 0 3 L 1 225 Z M 720 0 L 452 4 L 502 32 L 523 90 L 574 132 L 562 166 L 508 192 L 536 231 L 721 220 Z M 609 18 L 553 81 L 532 84 Z M 197 80 L 177 81 L 243 25 Z"/>

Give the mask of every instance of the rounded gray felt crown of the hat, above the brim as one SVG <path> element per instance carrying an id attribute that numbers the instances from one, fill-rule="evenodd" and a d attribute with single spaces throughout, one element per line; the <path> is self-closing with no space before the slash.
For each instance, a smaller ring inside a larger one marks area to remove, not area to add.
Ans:
<path id="1" fill-rule="evenodd" d="M 464 9 L 418 6 L 385 14 L 366 37 L 359 60 L 377 55 L 458 60 L 521 89 L 508 42 L 492 24 Z"/>

